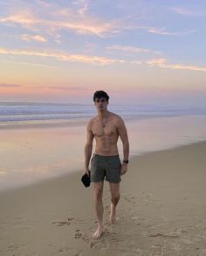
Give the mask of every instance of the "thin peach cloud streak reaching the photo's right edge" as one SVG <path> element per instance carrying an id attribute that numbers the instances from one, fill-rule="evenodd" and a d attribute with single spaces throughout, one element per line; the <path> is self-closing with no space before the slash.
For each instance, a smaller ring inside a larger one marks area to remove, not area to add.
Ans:
<path id="1" fill-rule="evenodd" d="M 199 66 L 190 66 L 190 65 L 183 65 L 183 64 L 168 64 L 168 60 L 166 59 L 153 59 L 148 60 L 147 64 L 149 67 L 160 67 L 160 68 L 172 68 L 172 69 L 185 69 L 185 70 L 192 70 L 192 71 L 206 71 L 206 67 L 199 67 Z"/>

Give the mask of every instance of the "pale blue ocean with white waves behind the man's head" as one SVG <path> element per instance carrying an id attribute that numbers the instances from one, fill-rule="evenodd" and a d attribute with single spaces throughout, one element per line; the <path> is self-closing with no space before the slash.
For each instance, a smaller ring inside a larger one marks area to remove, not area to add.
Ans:
<path id="1" fill-rule="evenodd" d="M 109 105 L 109 110 L 124 119 L 205 115 L 206 108 L 167 105 Z M 0 102 L 0 129 L 85 123 L 96 115 L 93 104 Z"/>

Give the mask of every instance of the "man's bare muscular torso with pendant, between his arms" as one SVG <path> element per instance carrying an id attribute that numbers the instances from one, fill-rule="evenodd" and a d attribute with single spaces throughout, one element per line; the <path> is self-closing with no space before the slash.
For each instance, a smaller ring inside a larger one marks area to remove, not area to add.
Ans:
<path id="1" fill-rule="evenodd" d="M 100 120 L 94 117 L 91 120 L 91 131 L 96 140 L 95 153 L 100 155 L 118 154 L 117 141 L 119 132 L 117 122 L 120 117 L 109 112 L 108 117 Z"/>

